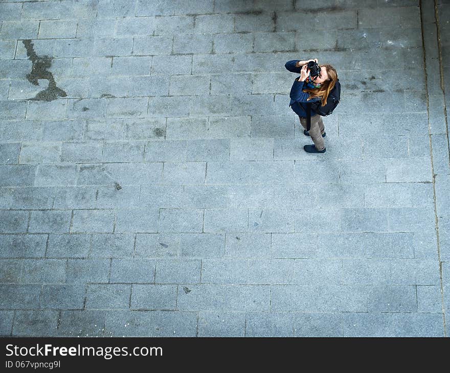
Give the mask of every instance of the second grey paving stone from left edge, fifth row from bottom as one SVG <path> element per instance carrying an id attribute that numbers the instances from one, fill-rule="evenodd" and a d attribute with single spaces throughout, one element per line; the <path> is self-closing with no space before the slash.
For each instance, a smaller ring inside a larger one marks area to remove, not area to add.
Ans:
<path id="1" fill-rule="evenodd" d="M 32 211 L 28 231 L 32 233 L 68 233 L 71 211 Z"/>

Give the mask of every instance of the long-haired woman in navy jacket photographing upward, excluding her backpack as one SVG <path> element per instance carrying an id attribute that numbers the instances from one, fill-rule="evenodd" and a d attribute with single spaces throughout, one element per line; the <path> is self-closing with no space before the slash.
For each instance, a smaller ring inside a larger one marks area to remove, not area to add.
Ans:
<path id="1" fill-rule="evenodd" d="M 307 106 L 308 104 L 320 103 L 324 106 L 327 103 L 328 95 L 333 89 L 334 84 L 338 80 L 338 73 L 331 65 L 320 66 L 320 71 L 317 76 L 311 76 L 308 69 L 308 62 L 318 62 L 317 59 L 299 61 L 287 61 L 285 67 L 292 73 L 300 73 L 300 77 L 294 81 L 290 90 L 289 106 L 299 116 L 300 123 L 303 126 L 303 133 L 306 136 L 311 136 L 314 145 L 305 145 L 308 153 L 325 153 L 325 127 L 322 121 L 322 116 L 316 114 L 311 108 L 311 128 L 307 131 Z M 313 105 L 312 105 L 313 106 Z"/>

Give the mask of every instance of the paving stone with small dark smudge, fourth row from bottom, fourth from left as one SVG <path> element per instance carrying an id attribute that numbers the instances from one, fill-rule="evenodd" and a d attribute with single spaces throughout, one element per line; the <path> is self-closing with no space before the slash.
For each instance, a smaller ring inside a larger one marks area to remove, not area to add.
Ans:
<path id="1" fill-rule="evenodd" d="M 179 251 L 179 235 L 170 233 L 137 234 L 135 246 L 136 258 L 176 257 Z"/>

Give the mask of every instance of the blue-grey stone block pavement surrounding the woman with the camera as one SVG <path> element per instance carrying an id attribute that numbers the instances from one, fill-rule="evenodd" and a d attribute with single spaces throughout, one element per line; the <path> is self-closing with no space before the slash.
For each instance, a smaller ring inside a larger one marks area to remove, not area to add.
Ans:
<path id="1" fill-rule="evenodd" d="M 448 336 L 436 1 L 0 1 L 0 334 Z"/>

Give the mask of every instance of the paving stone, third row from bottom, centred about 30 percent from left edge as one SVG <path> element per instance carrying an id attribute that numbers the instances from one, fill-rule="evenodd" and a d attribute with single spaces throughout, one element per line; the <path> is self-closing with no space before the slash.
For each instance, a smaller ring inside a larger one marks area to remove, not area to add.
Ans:
<path id="1" fill-rule="evenodd" d="M 154 283 L 155 261 L 147 259 L 113 259 L 111 283 Z"/>

